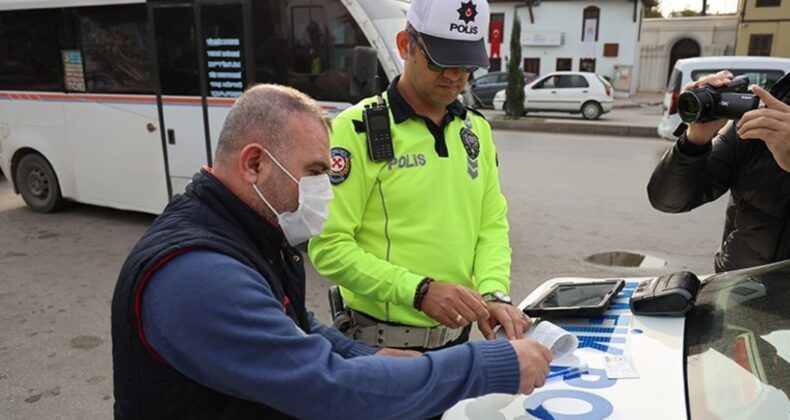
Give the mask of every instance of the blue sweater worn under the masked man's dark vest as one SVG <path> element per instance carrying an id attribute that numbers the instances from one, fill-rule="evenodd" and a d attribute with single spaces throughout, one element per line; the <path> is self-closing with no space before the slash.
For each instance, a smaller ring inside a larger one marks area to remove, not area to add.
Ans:
<path id="1" fill-rule="evenodd" d="M 211 251 L 160 268 L 144 290 L 142 319 L 151 346 L 187 377 L 300 418 L 423 418 L 461 399 L 518 390 L 507 341 L 371 356 L 377 349 L 312 314 L 305 334 L 260 274 Z"/>

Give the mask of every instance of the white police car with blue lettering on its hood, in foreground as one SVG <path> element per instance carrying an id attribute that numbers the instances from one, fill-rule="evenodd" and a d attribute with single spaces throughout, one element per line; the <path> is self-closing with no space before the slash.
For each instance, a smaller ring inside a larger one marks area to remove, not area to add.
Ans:
<path id="1" fill-rule="evenodd" d="M 451 419 L 787 419 L 790 414 L 790 260 L 702 280 L 685 317 L 634 315 L 641 282 L 626 279 L 607 311 L 553 318 L 579 346 L 552 361 L 531 395 L 491 394 L 459 402 Z M 534 302 L 558 282 L 533 291 Z M 671 283 L 671 280 L 670 280 Z"/>

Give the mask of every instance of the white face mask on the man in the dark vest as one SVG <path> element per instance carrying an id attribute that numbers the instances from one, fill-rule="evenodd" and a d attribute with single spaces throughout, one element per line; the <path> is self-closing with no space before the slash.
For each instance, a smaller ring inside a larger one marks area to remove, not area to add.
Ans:
<path id="1" fill-rule="evenodd" d="M 282 228 L 285 239 L 291 246 L 296 246 L 317 236 L 324 227 L 324 222 L 329 215 L 329 202 L 332 200 L 332 186 L 329 183 L 329 175 L 303 176 L 297 181 L 268 150 L 264 149 L 264 152 L 272 158 L 272 161 L 293 182 L 299 185 L 299 207 L 294 212 L 277 213 L 277 210 L 263 197 L 258 186 L 252 184 L 252 188 L 272 213 L 277 215 L 280 228 Z"/>

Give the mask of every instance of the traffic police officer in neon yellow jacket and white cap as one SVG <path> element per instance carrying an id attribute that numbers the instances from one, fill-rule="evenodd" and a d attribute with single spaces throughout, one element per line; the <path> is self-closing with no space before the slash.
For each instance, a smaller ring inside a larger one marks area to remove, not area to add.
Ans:
<path id="1" fill-rule="evenodd" d="M 488 3 L 413 0 L 407 19 L 403 74 L 383 101 L 365 99 L 332 123 L 335 198 L 310 257 L 340 285 L 349 334 L 372 345 L 443 348 L 467 341 L 475 321 L 486 338 L 497 323 L 520 338 L 529 324 L 507 295 L 491 127 L 457 100 L 470 73 L 488 67 Z"/>

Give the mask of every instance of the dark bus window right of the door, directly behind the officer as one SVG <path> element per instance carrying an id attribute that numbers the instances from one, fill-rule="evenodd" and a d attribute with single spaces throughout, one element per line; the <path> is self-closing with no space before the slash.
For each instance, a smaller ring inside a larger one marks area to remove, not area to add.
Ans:
<path id="1" fill-rule="evenodd" d="M 350 95 L 354 47 L 370 46 L 339 0 L 252 4 L 256 82 L 293 86 L 322 101 Z"/>

